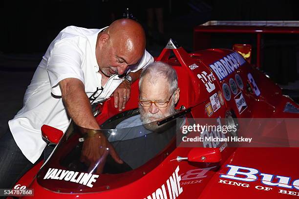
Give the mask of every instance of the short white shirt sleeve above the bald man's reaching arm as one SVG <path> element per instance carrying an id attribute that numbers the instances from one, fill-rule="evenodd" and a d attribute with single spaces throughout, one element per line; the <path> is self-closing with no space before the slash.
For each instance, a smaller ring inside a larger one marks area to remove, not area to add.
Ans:
<path id="1" fill-rule="evenodd" d="M 54 45 L 46 67 L 53 95 L 62 96 L 59 82 L 66 78 L 76 78 L 85 83 L 82 60 L 83 53 L 75 43 L 62 41 Z"/>

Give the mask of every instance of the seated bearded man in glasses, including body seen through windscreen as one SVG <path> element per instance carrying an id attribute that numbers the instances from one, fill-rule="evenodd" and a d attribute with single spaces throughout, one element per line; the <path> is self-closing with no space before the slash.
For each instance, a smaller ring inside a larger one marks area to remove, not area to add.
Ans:
<path id="1" fill-rule="evenodd" d="M 154 122 L 177 112 L 174 107 L 180 89 L 175 70 L 164 62 L 149 64 L 140 75 L 139 93 L 140 115 L 120 122 L 117 133 L 108 137 L 121 159 L 133 169 L 157 155 L 175 137 L 175 125 L 161 131 Z"/>

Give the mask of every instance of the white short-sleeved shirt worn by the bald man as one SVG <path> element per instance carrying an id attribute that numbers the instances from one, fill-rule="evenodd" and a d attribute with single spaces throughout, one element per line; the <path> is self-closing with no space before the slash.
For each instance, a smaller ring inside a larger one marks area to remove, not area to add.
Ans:
<path id="1" fill-rule="evenodd" d="M 51 42 L 35 71 L 25 92 L 22 109 L 8 121 L 17 145 L 32 163 L 39 159 L 46 146 L 42 139 L 42 125 L 47 124 L 65 132 L 69 124 L 70 118 L 61 98 L 61 80 L 81 80 L 88 97 L 103 86 L 104 90 L 94 102 L 110 97 L 124 80 L 113 75 L 105 85 L 101 85 L 95 47 L 98 33 L 103 29 L 68 26 L 62 30 Z M 136 72 L 152 61 L 152 56 L 145 51 L 138 64 L 129 66 L 129 69 Z"/>

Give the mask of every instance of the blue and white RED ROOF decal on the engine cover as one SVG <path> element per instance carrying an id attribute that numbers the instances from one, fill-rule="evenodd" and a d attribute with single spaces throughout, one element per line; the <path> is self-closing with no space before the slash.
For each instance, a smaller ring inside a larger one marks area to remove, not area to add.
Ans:
<path id="1" fill-rule="evenodd" d="M 233 52 L 211 64 L 210 68 L 214 71 L 219 80 L 223 80 L 245 62 L 239 53 Z"/>

